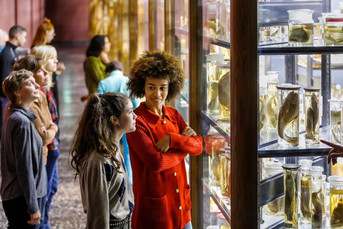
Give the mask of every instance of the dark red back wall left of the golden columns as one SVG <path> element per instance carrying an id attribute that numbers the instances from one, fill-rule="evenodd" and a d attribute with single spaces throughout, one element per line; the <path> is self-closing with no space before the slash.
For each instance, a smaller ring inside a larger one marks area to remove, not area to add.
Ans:
<path id="1" fill-rule="evenodd" d="M 88 0 L 46 1 L 45 14 L 55 26 L 54 42 L 88 41 Z"/>

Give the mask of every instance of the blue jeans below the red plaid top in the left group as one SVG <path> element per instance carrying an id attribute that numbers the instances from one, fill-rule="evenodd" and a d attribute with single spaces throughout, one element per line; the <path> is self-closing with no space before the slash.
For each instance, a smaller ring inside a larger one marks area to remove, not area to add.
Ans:
<path id="1" fill-rule="evenodd" d="M 57 185 L 58 185 L 58 166 L 57 166 L 57 158 L 60 155 L 60 151 L 57 148 L 56 150 L 49 150 L 46 162 L 46 173 L 48 178 L 47 183 L 47 194 L 46 194 L 46 202 L 45 202 L 45 215 L 43 225 L 41 225 L 40 229 L 50 229 L 49 226 L 49 211 L 51 206 L 52 197 L 57 192 Z"/>

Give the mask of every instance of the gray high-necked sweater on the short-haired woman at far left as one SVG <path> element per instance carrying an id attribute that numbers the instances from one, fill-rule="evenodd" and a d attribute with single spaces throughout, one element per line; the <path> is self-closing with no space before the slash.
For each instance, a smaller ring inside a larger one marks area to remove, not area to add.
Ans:
<path id="1" fill-rule="evenodd" d="M 39 210 L 37 198 L 46 195 L 43 143 L 33 124 L 36 118 L 32 111 L 11 105 L 1 135 L 2 201 L 23 195 L 28 214 Z"/>

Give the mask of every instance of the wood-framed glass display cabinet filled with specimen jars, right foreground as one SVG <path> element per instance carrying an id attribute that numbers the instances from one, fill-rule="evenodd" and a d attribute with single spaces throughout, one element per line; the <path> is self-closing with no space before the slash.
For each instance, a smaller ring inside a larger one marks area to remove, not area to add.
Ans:
<path id="1" fill-rule="evenodd" d="M 327 178 L 342 167 L 327 164 L 331 147 L 319 139 L 341 142 L 342 15 L 325 14 L 333 7 L 323 0 L 194 0 L 190 9 L 204 138 L 197 228 L 329 228 L 338 205 L 330 208 L 336 186 L 327 182 L 339 179 Z"/>

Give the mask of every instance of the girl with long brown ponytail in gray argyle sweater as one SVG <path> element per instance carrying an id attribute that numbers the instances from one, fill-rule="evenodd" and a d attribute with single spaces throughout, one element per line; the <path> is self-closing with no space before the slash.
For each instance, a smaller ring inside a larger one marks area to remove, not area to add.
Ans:
<path id="1" fill-rule="evenodd" d="M 135 131 L 132 102 L 123 93 L 94 93 L 87 101 L 70 148 L 79 175 L 86 228 L 130 228 L 133 193 L 118 142 Z"/>

